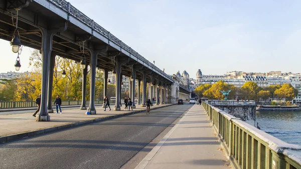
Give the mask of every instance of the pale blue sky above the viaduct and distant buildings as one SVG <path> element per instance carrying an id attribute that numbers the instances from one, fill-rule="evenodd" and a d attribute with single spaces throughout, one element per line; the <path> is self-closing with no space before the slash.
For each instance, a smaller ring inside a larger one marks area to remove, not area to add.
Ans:
<path id="1" fill-rule="evenodd" d="M 301 1 L 69 2 L 168 74 L 301 72 Z M 0 72 L 14 71 L 17 55 L 9 42 L 0 47 Z"/>

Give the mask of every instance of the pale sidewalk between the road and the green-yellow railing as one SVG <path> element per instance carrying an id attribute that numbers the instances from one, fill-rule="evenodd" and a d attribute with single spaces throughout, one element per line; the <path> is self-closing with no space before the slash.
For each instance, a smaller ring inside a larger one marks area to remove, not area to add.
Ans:
<path id="1" fill-rule="evenodd" d="M 229 167 L 205 109 L 194 105 L 135 169 Z"/>

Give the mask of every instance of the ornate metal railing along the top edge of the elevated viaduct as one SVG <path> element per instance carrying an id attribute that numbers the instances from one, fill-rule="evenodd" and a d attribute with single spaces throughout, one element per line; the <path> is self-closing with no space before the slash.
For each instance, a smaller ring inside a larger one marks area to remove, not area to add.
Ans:
<path id="1" fill-rule="evenodd" d="M 147 65 L 152 66 L 156 71 L 160 72 L 161 74 L 163 74 L 167 78 L 169 78 L 169 80 L 173 81 L 173 78 L 171 78 L 168 74 L 166 74 L 165 72 L 163 72 L 161 69 L 159 69 L 154 64 L 150 63 L 148 60 L 146 60 L 144 57 L 142 57 L 136 51 L 134 51 L 133 49 L 131 49 L 129 46 L 127 46 L 126 44 L 124 44 L 123 42 L 121 42 L 121 40 L 119 40 L 117 37 L 115 37 L 114 35 L 110 34 L 109 31 L 105 30 L 104 28 L 102 28 L 97 23 L 94 23 L 94 21 L 92 19 L 90 19 L 89 17 L 87 17 L 86 15 L 84 15 L 82 12 L 80 12 L 79 10 L 77 10 L 69 2 L 67 2 L 65 0 L 47 0 L 47 1 L 51 2 L 52 4 L 54 4 L 55 6 L 57 6 L 58 8 L 64 10 L 66 13 L 68 13 L 69 15 L 73 16 L 74 18 L 76 18 L 78 21 L 80 21 L 83 24 L 87 25 L 92 30 L 98 32 L 100 35 L 108 38 L 114 44 L 118 45 L 119 47 L 121 47 L 125 51 L 127 51 L 130 54 L 132 54 L 133 56 L 137 57 L 138 59 L 140 59 L 142 62 L 146 63 Z"/>

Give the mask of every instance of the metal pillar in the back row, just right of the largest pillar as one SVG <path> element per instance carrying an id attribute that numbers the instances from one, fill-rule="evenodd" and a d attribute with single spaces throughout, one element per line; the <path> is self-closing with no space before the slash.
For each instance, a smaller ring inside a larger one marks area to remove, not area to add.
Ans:
<path id="1" fill-rule="evenodd" d="M 47 105 L 47 112 L 53 113 L 52 108 L 52 85 L 53 85 L 53 69 L 55 65 L 55 56 L 56 52 L 52 51 L 50 56 L 50 71 L 48 76 L 48 105 Z"/>

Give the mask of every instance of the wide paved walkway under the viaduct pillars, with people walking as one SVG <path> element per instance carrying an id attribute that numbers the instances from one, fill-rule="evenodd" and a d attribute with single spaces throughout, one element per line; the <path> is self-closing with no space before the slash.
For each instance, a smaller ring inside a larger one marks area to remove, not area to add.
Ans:
<path id="1" fill-rule="evenodd" d="M 170 105 L 173 104 L 154 105 L 152 109 Z M 62 114 L 49 113 L 50 121 L 44 122 L 37 122 L 36 118 L 32 116 L 35 110 L 33 110 L 32 113 L 0 115 L 0 142 L 48 133 L 146 110 L 146 108 L 141 107 L 141 105 L 136 105 L 133 111 L 124 110 L 124 105 L 122 105 L 121 111 L 114 111 L 114 105 L 111 105 L 111 111 L 109 111 L 109 108 L 103 111 L 101 106 L 95 106 L 95 108 L 96 114 L 93 115 L 85 115 L 87 110 L 62 108 Z"/>

